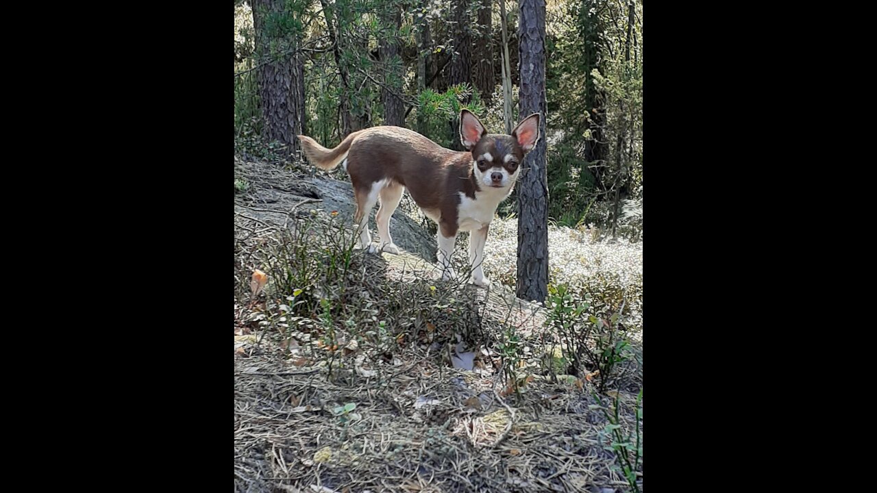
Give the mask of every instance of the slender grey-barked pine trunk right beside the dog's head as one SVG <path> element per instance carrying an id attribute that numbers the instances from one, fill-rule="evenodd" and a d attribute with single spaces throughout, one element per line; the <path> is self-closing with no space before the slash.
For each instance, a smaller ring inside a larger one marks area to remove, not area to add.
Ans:
<path id="1" fill-rule="evenodd" d="M 545 0 L 518 3 L 520 115 L 540 112 L 540 138 L 522 163 L 517 192 L 517 297 L 548 295 L 548 185 L 545 171 Z"/>

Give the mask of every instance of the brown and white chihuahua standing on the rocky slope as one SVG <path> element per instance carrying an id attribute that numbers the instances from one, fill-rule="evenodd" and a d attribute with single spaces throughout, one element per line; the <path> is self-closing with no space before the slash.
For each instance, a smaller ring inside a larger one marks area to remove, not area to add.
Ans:
<path id="1" fill-rule="evenodd" d="M 467 151 L 452 151 L 423 135 L 398 126 L 375 126 L 353 132 L 334 149 L 299 135 L 304 154 L 317 168 L 336 168 L 341 161 L 356 198 L 354 220 L 360 247 L 374 251 L 368 215 L 378 197 L 381 251 L 398 254 L 389 234 L 389 218 L 405 189 L 426 217 L 439 225 L 442 278 L 455 277 L 450 267 L 457 232 L 468 231 L 472 282 L 488 286 L 481 263 L 488 226 L 496 207 L 511 193 L 524 155 L 539 139 L 539 114 L 521 121 L 511 135 L 488 133 L 470 111 L 460 112 L 460 141 Z"/>

